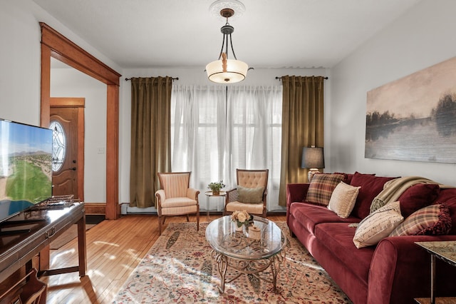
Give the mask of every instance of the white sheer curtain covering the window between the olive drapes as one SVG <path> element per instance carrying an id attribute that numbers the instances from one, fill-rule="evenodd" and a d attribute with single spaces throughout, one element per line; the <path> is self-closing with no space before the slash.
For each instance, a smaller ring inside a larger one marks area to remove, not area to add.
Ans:
<path id="1" fill-rule="evenodd" d="M 279 206 L 281 86 L 172 86 L 172 171 L 192 171 L 206 208 L 207 184 L 236 186 L 236 168 L 269 169 L 268 211 Z M 212 198 L 210 210 L 222 211 Z"/>

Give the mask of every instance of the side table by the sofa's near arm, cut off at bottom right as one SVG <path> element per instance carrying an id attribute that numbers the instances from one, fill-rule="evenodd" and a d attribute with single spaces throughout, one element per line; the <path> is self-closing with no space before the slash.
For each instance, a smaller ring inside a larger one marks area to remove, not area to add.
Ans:
<path id="1" fill-rule="evenodd" d="M 430 299 L 429 302 L 425 299 L 415 299 L 417 303 L 430 303 L 435 304 L 435 258 L 445 261 L 446 263 L 456 266 L 456 241 L 436 241 L 436 242 L 415 242 L 415 244 L 424 248 L 428 253 L 430 253 Z M 424 300 L 424 301 L 423 301 Z M 438 299 L 437 302 L 440 302 Z M 450 300 L 455 300 L 455 298 L 445 298 L 445 302 L 440 303 L 453 303 L 449 302 Z"/>

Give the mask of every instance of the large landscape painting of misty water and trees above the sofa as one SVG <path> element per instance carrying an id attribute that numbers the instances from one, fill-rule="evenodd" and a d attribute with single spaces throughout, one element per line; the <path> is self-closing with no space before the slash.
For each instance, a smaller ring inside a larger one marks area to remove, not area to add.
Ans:
<path id="1" fill-rule="evenodd" d="M 456 57 L 368 91 L 365 157 L 456 163 Z"/>

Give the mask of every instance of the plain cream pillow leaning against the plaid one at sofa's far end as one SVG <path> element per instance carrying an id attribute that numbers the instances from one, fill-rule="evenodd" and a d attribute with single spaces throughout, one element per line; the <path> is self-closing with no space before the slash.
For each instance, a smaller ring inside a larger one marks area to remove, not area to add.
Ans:
<path id="1" fill-rule="evenodd" d="M 348 218 L 356 203 L 359 188 L 347 185 L 343 181 L 338 183 L 331 194 L 328 209 L 334 211 L 341 218 Z"/>

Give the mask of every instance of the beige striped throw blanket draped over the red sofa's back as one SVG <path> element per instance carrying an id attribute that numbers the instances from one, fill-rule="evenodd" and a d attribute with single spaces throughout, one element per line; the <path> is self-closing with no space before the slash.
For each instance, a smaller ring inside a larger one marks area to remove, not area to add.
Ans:
<path id="1" fill-rule="evenodd" d="M 397 201 L 399 196 L 404 193 L 405 190 L 418 183 L 436 183 L 441 188 L 445 187 L 440 183 L 421 176 L 404 176 L 402 178 L 392 179 L 383 185 L 383 190 L 373 199 L 371 203 L 371 213 L 378 208 L 385 206 L 387 203 Z"/>

